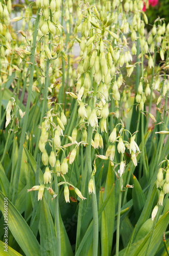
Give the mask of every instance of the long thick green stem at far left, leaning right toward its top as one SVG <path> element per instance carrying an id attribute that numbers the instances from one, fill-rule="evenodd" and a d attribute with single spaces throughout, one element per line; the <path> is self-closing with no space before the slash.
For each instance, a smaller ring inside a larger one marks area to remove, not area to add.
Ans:
<path id="1" fill-rule="evenodd" d="M 35 68 L 35 66 L 34 66 L 35 65 L 34 55 L 35 55 L 35 49 L 36 49 L 36 37 L 37 37 L 37 33 L 38 33 L 38 24 L 39 24 L 39 17 L 40 17 L 39 12 L 40 12 L 40 8 L 38 8 L 38 11 L 37 11 L 37 18 L 36 18 L 35 32 L 34 32 L 34 40 L 33 40 L 33 48 L 32 48 L 32 51 L 31 51 L 32 55 L 31 55 L 30 62 L 32 62 L 33 65 L 31 66 L 31 71 L 30 71 L 29 91 L 28 91 L 28 96 L 27 96 L 26 111 L 25 111 L 23 128 L 22 128 L 21 139 L 20 139 L 18 161 L 17 161 L 17 167 L 16 167 L 16 178 L 15 178 L 15 182 L 14 182 L 14 191 L 13 191 L 13 197 L 12 197 L 12 203 L 13 204 L 15 204 L 16 197 L 17 197 L 17 188 L 18 188 L 18 183 L 19 183 L 19 175 L 20 175 L 22 152 L 23 152 L 23 143 L 24 143 L 27 120 L 28 120 L 28 117 L 29 117 L 30 104 L 31 104 L 31 95 L 32 95 L 32 86 L 33 86 L 34 68 Z"/>

